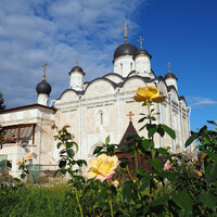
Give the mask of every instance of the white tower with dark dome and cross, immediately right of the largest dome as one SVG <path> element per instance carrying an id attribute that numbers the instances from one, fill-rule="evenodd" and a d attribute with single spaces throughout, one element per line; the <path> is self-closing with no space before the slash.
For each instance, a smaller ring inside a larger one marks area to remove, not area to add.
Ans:
<path id="1" fill-rule="evenodd" d="M 142 38 L 140 36 L 140 50 L 138 50 L 133 56 L 135 60 L 135 65 L 136 65 L 136 73 L 145 76 L 145 77 L 151 77 L 151 63 L 150 60 L 152 56 L 149 54 L 146 50 L 142 48 Z"/>

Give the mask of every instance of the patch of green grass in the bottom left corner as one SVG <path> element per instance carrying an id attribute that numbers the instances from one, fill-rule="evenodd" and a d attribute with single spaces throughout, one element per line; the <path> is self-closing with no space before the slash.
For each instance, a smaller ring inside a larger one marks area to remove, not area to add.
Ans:
<path id="1" fill-rule="evenodd" d="M 61 217 L 75 216 L 68 187 L 59 183 L 49 187 L 4 188 L 0 192 L 2 217 Z"/>

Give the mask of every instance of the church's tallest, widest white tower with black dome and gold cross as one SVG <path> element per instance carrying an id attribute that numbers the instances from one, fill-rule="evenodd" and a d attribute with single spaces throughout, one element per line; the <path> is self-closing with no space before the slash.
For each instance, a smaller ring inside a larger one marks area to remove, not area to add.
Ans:
<path id="1" fill-rule="evenodd" d="M 125 30 L 125 43 L 118 46 L 114 52 L 114 73 L 122 75 L 123 77 L 127 77 L 129 73 L 135 71 L 135 61 L 132 60 L 133 55 L 137 52 L 137 48 L 127 42 L 127 29 L 131 28 L 131 26 L 127 27 L 125 22 L 125 27 L 119 30 Z"/>

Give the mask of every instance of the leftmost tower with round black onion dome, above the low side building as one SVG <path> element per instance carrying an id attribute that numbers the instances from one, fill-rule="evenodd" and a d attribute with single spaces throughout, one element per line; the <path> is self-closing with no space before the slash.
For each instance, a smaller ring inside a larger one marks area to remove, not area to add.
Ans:
<path id="1" fill-rule="evenodd" d="M 46 80 L 46 66 L 48 64 L 43 63 L 43 79 L 36 86 L 36 91 L 38 93 L 38 104 L 48 106 L 49 95 L 51 93 L 51 86 Z"/>

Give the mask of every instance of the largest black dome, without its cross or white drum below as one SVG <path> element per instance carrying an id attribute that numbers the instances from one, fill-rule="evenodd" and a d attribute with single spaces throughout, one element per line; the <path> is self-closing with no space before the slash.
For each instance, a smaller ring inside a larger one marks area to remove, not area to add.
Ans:
<path id="1" fill-rule="evenodd" d="M 131 43 L 123 43 L 118 46 L 114 52 L 114 60 L 123 55 L 135 55 L 138 51 L 137 47 Z"/>

